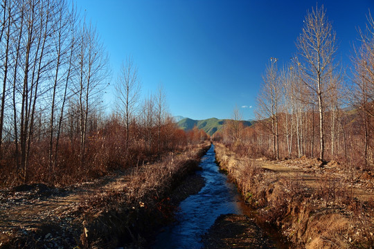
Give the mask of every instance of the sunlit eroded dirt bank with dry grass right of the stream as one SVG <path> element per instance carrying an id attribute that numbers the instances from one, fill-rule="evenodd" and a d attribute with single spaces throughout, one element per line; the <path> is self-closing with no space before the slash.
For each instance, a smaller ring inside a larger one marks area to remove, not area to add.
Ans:
<path id="1" fill-rule="evenodd" d="M 337 165 L 307 158 L 239 158 L 215 145 L 217 162 L 265 222 L 277 225 L 296 248 L 373 248 L 371 179 L 344 181 Z"/>

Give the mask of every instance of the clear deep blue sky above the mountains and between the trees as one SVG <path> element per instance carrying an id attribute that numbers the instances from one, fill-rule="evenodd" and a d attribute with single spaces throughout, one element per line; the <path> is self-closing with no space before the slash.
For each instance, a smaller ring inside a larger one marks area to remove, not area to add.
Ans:
<path id="1" fill-rule="evenodd" d="M 374 0 L 318 1 L 337 33 L 337 59 L 349 66 L 357 27 L 364 28 Z M 173 116 L 230 118 L 236 106 L 255 118 L 256 95 L 270 57 L 280 64 L 316 1 L 77 0 L 96 24 L 112 66 L 112 86 L 121 62 L 132 55 L 142 93 L 162 83 Z M 105 102 L 112 106 L 114 89 Z M 247 108 L 241 108 L 247 106 Z M 250 108 L 251 107 L 251 108 Z"/>

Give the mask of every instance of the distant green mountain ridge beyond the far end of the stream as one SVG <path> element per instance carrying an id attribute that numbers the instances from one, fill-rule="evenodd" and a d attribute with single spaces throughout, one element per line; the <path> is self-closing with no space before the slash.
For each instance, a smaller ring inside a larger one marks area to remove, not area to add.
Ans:
<path id="1" fill-rule="evenodd" d="M 202 129 L 205 131 L 209 136 L 212 136 L 215 132 L 220 131 L 224 126 L 226 119 L 220 120 L 218 118 L 208 118 L 206 120 L 193 120 L 190 118 L 184 118 L 177 122 L 179 128 L 184 129 L 185 131 L 192 130 L 193 127 L 197 127 L 198 129 Z M 250 121 L 242 121 L 245 127 L 249 127 L 252 125 Z"/>

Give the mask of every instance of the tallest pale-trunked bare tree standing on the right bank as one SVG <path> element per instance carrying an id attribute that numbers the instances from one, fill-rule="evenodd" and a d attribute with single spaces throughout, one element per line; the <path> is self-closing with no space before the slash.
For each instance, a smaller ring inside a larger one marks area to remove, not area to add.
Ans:
<path id="1" fill-rule="evenodd" d="M 319 109 L 319 142 L 321 160 L 324 159 L 325 137 L 323 130 L 323 108 L 326 84 L 335 69 L 334 57 L 337 51 L 335 32 L 326 17 L 323 6 L 307 12 L 302 33 L 296 46 L 299 57 L 296 63 L 302 72 L 301 81 L 315 94 Z"/>

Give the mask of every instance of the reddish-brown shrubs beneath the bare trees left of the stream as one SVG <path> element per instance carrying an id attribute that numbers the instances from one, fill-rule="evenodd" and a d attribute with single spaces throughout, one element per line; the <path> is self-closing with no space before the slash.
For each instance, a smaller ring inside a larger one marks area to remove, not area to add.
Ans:
<path id="1" fill-rule="evenodd" d="M 152 127 L 152 134 L 155 134 L 156 130 L 157 127 Z M 156 139 L 153 140 L 150 149 L 146 147 L 144 133 L 143 127 L 136 123 L 132 124 L 132 142 L 130 147 L 125 149 L 125 127 L 118 117 L 112 116 L 102 126 L 89 131 L 84 161 L 80 158 L 79 138 L 63 136 L 60 140 L 60 153 L 53 169 L 48 167 L 48 139 L 35 140 L 30 150 L 26 183 L 61 186 L 88 181 L 116 169 L 153 163 L 165 154 L 179 151 L 196 142 L 196 136 L 192 131 L 186 134 L 178 129 L 171 119 L 161 127 L 161 147 L 157 145 Z M 1 160 L 0 182 L 3 186 L 25 183 L 24 172 L 15 167 L 14 149 L 14 145 L 8 145 Z"/>

